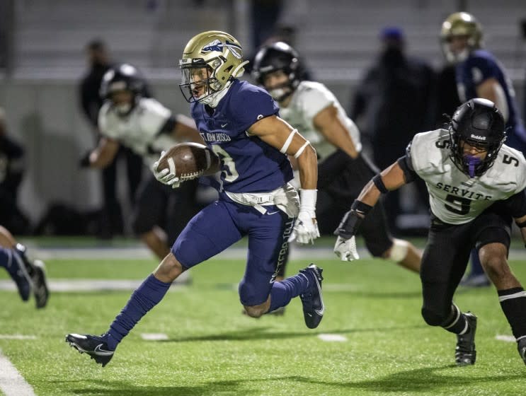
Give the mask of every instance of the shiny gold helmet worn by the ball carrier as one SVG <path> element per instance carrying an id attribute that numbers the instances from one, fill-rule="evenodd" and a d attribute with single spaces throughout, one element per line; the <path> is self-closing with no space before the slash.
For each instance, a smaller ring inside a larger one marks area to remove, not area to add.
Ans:
<path id="1" fill-rule="evenodd" d="M 245 71 L 239 41 L 228 33 L 210 30 L 194 36 L 179 61 L 179 84 L 187 102 L 211 104 L 219 93 Z"/>

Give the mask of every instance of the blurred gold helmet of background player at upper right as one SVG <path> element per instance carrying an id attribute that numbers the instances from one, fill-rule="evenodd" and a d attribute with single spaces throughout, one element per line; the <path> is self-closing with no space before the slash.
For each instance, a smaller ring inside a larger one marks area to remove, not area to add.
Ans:
<path id="1" fill-rule="evenodd" d="M 453 37 L 465 37 L 467 40 L 467 48 L 462 51 L 454 52 L 450 46 Z M 470 13 L 452 13 L 442 23 L 440 42 L 442 45 L 442 52 L 444 52 L 445 57 L 449 62 L 462 62 L 467 58 L 469 52 L 482 47 L 481 24 Z"/>

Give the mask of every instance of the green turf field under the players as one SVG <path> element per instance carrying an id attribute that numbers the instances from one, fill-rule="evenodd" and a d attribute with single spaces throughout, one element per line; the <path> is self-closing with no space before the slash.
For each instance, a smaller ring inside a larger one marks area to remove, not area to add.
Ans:
<path id="1" fill-rule="evenodd" d="M 307 264 L 292 262 L 289 272 Z M 0 334 L 35 336 L 0 337 L 0 349 L 39 396 L 524 394 L 526 366 L 515 343 L 496 339 L 511 332 L 493 287 L 457 292 L 459 307 L 479 316 L 476 365 L 457 368 L 454 335 L 421 318 L 418 276 L 380 260 L 328 255 L 316 264 L 326 303 L 316 330 L 305 327 L 297 298 L 282 317 L 241 315 L 244 260 L 210 260 L 135 327 L 106 368 L 70 348 L 64 334 L 105 331 L 130 291 L 57 292 L 40 311 L 0 291 Z M 526 282 L 525 262 L 511 264 Z M 155 265 L 47 260 L 51 280 L 143 279 Z M 168 339 L 147 341 L 144 333 Z"/>

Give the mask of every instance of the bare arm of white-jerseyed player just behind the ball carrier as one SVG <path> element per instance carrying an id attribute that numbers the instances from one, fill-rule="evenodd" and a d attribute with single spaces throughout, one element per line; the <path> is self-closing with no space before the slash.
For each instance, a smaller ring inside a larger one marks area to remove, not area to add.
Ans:
<path id="1" fill-rule="evenodd" d="M 333 146 L 345 151 L 351 158 L 358 157 L 353 139 L 350 138 L 349 131 L 338 117 L 338 109 L 335 106 L 325 107 L 324 110 L 316 114 L 313 122 L 316 130 L 323 134 Z"/>

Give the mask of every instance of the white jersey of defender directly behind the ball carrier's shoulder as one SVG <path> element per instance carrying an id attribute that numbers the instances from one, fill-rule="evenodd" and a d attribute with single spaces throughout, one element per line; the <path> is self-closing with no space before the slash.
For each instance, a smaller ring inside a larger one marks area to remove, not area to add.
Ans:
<path id="1" fill-rule="evenodd" d="M 313 122 L 314 117 L 330 105 L 338 109 L 338 117 L 340 117 L 341 123 L 347 128 L 356 150 L 360 152 L 362 144 L 360 143 L 358 127 L 347 117 L 336 96 L 324 84 L 314 81 L 302 81 L 292 93 L 289 105 L 280 107 L 280 117 L 291 124 L 292 127 L 297 128 L 298 132 L 311 142 L 311 145 L 316 148 L 319 162 L 324 161 L 325 158 L 336 151 L 336 147 L 327 141 L 323 134 L 316 131 Z"/>

